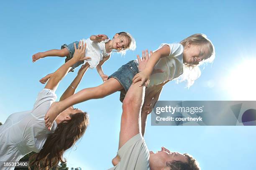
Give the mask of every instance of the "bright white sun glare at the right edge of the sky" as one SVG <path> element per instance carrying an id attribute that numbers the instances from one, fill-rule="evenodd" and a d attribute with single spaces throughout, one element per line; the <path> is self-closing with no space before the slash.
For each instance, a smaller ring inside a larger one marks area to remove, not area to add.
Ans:
<path id="1" fill-rule="evenodd" d="M 234 66 L 223 85 L 231 100 L 256 100 L 256 58 Z"/>

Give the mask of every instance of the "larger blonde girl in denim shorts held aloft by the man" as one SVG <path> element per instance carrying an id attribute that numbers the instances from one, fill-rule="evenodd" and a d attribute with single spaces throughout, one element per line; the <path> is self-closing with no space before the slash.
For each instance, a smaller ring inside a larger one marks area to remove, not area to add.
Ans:
<path id="1" fill-rule="evenodd" d="M 148 51 L 146 51 L 146 55 L 148 55 Z M 145 82 L 147 86 L 150 76 L 149 87 L 163 84 L 177 77 L 180 77 L 179 81 L 187 80 L 188 86 L 191 86 L 200 76 L 198 65 L 212 62 L 214 58 L 214 46 L 204 34 L 194 34 L 180 43 L 163 43 L 152 53 L 147 68 L 143 71 L 138 73 L 138 61 L 129 61 L 109 76 L 108 81 L 104 84 L 83 89 L 63 101 L 53 103 L 45 117 L 46 127 L 51 129 L 52 122 L 64 108 L 82 101 L 103 98 L 116 91 L 121 91 L 120 101 L 123 101 L 132 83 L 141 81 L 140 86 Z M 144 52 L 142 53 L 143 59 L 146 59 Z M 158 73 L 153 74 L 154 69 L 157 69 Z"/>

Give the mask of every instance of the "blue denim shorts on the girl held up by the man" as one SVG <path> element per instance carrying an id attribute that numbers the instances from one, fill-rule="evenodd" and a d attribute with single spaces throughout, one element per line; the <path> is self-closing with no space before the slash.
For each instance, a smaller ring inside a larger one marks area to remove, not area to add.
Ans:
<path id="1" fill-rule="evenodd" d="M 120 91 L 120 101 L 123 102 L 125 94 L 133 83 L 133 77 L 138 73 L 138 63 L 135 60 L 129 61 L 125 65 L 121 66 L 118 71 L 111 74 L 108 79 L 111 77 L 117 79 L 119 83 L 123 86 L 123 89 Z"/>

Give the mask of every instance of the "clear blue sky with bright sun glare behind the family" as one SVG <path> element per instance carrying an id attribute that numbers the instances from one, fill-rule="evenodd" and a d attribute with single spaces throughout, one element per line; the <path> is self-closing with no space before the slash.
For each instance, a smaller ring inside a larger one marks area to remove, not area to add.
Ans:
<path id="1" fill-rule="evenodd" d="M 59 49 L 93 34 L 112 37 L 127 31 L 136 39 L 136 51 L 113 53 L 104 64 L 110 75 L 136 58 L 143 49 L 178 43 L 194 33 L 205 33 L 215 45 L 216 58 L 190 89 L 170 82 L 160 100 L 256 100 L 256 2 L 253 0 L 203 1 L 3 1 L 0 6 L 0 122 L 14 112 L 30 110 L 39 79 L 55 71 L 64 58 L 49 57 L 32 63 L 39 51 Z M 69 73 L 59 85 L 60 97 L 72 82 Z M 88 70 L 78 90 L 102 83 L 96 70 Z M 76 107 L 90 114 L 90 127 L 82 140 L 65 154 L 69 167 L 85 170 L 110 168 L 118 149 L 119 93 L 90 100 Z M 254 170 L 256 127 L 146 127 L 149 150 L 165 146 L 188 152 L 205 170 Z"/>

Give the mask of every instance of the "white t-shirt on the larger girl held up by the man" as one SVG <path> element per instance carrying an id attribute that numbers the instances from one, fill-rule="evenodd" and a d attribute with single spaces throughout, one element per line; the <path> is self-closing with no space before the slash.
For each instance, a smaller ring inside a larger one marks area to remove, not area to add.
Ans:
<path id="1" fill-rule="evenodd" d="M 154 69 L 162 69 L 164 73 L 151 74 L 148 86 L 175 79 L 183 73 L 183 46 L 179 43 L 162 43 L 157 50 L 166 45 L 170 47 L 171 53 L 169 56 L 160 58 L 154 66 Z M 138 62 L 138 59 L 136 61 Z"/>

